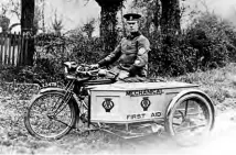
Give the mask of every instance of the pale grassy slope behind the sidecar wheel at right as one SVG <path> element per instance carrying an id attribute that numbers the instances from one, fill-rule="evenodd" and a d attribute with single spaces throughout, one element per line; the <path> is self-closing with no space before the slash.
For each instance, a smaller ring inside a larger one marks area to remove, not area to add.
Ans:
<path id="1" fill-rule="evenodd" d="M 236 98 L 236 64 L 207 71 L 191 73 L 169 80 L 200 85 L 215 106 L 223 103 L 227 98 Z"/>

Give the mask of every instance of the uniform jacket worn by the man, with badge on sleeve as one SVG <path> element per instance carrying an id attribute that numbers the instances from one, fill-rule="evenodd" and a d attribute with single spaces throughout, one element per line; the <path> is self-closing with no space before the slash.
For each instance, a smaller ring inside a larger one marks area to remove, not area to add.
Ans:
<path id="1" fill-rule="evenodd" d="M 144 52 L 139 52 L 144 48 Z M 118 67 L 128 70 L 130 76 L 147 76 L 148 52 L 150 43 L 140 32 L 124 37 L 112 53 L 98 62 L 99 66 L 108 66 L 118 60 Z M 144 75 L 143 75 L 144 74 Z"/>

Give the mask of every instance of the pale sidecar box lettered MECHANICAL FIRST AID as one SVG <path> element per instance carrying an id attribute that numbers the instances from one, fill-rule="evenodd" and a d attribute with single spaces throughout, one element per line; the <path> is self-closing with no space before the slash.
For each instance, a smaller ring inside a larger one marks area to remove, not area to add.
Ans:
<path id="1" fill-rule="evenodd" d="M 161 119 L 172 98 L 197 85 L 168 82 L 120 82 L 90 88 L 90 121 L 133 123 Z"/>

